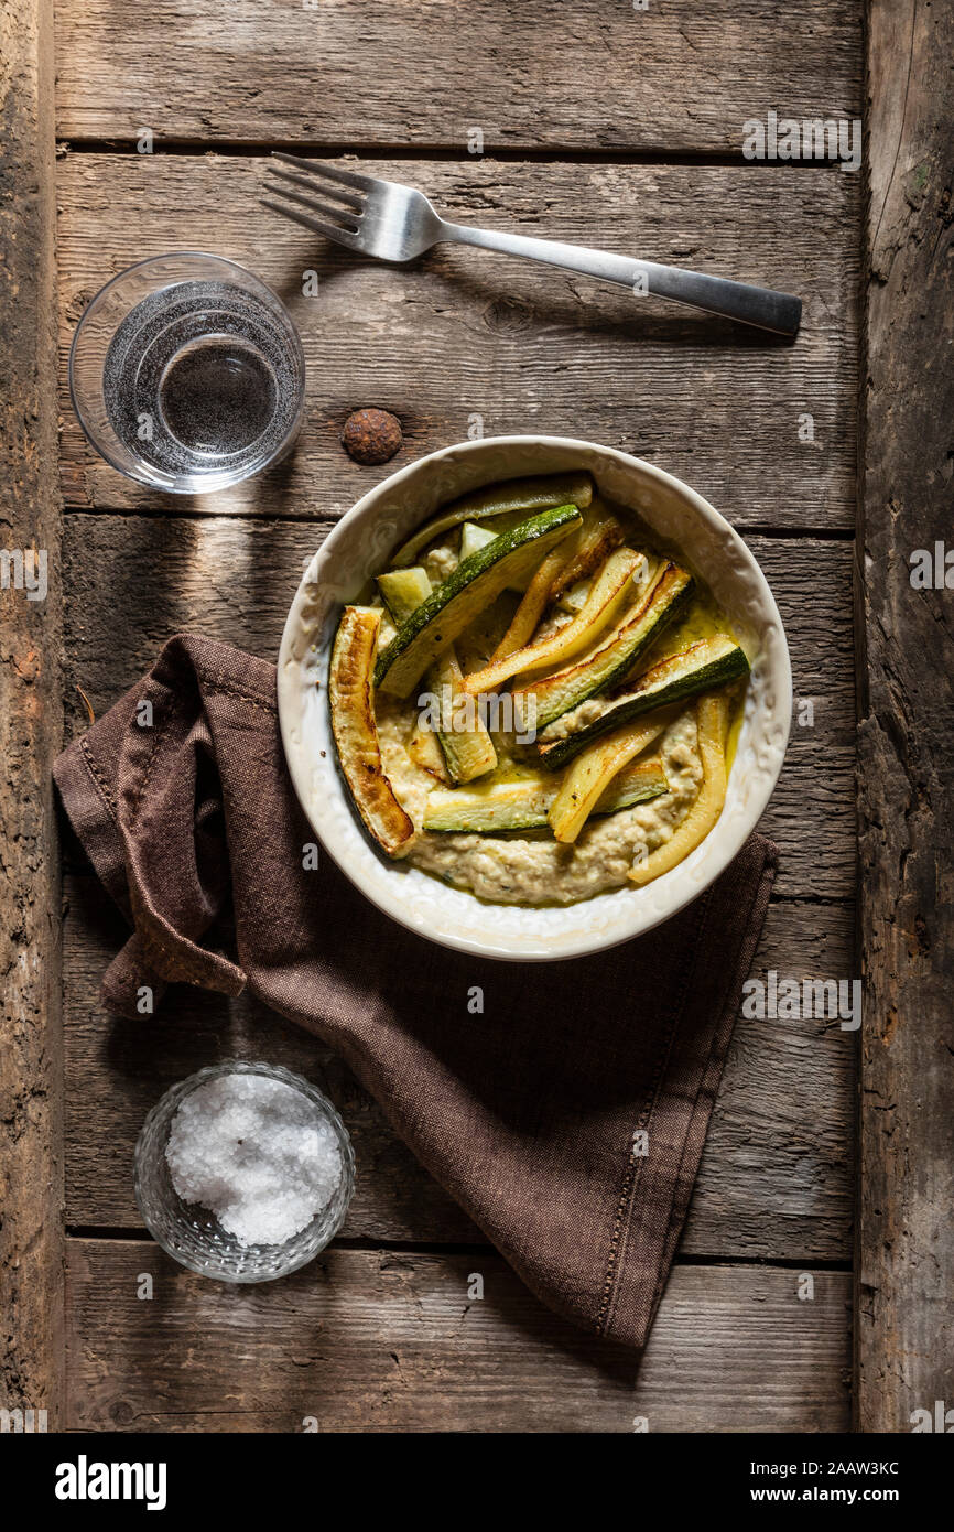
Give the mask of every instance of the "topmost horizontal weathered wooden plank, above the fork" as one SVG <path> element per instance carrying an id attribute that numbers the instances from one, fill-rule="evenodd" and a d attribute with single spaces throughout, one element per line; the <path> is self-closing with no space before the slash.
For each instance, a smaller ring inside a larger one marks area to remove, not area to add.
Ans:
<path id="1" fill-rule="evenodd" d="M 64 138 L 723 150 L 778 106 L 851 116 L 861 0 L 109 0 L 57 6 Z"/>

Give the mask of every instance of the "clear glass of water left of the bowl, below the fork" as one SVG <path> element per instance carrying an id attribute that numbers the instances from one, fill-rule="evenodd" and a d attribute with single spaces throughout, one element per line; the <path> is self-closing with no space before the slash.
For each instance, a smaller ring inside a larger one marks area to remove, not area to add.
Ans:
<path id="1" fill-rule="evenodd" d="M 141 260 L 86 309 L 69 354 L 86 435 L 152 489 L 227 489 L 291 447 L 305 357 L 279 297 L 250 271 L 184 250 Z"/>

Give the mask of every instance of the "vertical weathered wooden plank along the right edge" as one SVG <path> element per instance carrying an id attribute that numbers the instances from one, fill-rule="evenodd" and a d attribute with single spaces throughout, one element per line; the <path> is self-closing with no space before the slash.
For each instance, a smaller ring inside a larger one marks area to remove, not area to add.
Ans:
<path id="1" fill-rule="evenodd" d="M 943 571 L 954 412 L 952 49 L 949 6 L 871 3 L 858 627 L 864 1431 L 907 1431 L 913 1411 L 954 1399 L 954 691 Z M 933 570 L 926 588 L 913 585 L 917 550 Z"/>

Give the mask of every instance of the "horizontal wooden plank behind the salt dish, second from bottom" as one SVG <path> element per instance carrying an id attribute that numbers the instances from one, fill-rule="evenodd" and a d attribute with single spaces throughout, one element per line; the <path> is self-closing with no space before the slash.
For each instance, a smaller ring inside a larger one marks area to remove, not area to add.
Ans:
<path id="1" fill-rule="evenodd" d="M 126 938 L 124 922 L 90 876 L 70 876 L 66 893 L 70 1226 L 138 1226 L 132 1157 L 149 1108 L 194 1069 L 262 1057 L 319 1080 L 348 1123 L 358 1160 L 348 1236 L 482 1242 L 331 1051 L 257 1000 L 176 988 L 155 1023 L 133 1026 L 107 1016 L 98 987 Z M 770 907 L 752 973 L 841 977 L 851 971 L 851 947 L 850 907 L 784 901 Z M 854 1057 L 853 1034 L 830 1022 L 737 1022 L 683 1242 L 688 1253 L 848 1256 Z"/>

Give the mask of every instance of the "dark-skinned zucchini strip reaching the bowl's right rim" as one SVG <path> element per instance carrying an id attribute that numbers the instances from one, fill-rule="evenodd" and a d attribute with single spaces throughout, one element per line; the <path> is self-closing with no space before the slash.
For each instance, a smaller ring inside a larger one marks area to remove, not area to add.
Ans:
<path id="1" fill-rule="evenodd" d="M 560 717 L 537 735 L 536 748 L 548 766 L 562 766 L 600 735 L 645 712 L 652 712 L 654 708 L 724 686 L 747 674 L 749 660 L 735 639 L 724 633 L 701 639 L 654 665 L 628 691 L 609 699 L 597 717 L 586 719 L 579 729 L 573 729 L 573 714 Z"/>

